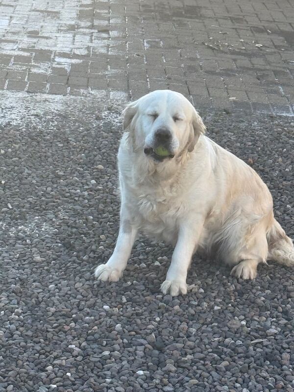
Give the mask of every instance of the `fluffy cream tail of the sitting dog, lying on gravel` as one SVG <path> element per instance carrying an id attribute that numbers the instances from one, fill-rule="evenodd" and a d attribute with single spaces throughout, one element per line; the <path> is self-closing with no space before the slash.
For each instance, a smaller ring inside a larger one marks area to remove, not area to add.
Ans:
<path id="1" fill-rule="evenodd" d="M 294 267 L 294 245 L 282 229 L 279 222 L 273 221 L 270 231 L 267 233 L 269 253 L 267 260 L 274 260 L 288 267 Z"/>

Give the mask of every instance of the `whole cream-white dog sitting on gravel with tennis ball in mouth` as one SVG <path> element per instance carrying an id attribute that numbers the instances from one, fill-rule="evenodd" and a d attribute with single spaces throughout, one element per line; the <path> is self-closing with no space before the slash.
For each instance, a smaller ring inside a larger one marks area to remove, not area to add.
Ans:
<path id="1" fill-rule="evenodd" d="M 272 198 L 256 172 L 204 136 L 205 126 L 181 94 L 154 91 L 124 110 L 118 162 L 121 222 L 114 252 L 95 271 L 117 281 L 138 230 L 175 245 L 161 290 L 186 294 L 196 250 L 253 279 L 274 259 L 294 266 L 294 246 L 274 219 Z"/>

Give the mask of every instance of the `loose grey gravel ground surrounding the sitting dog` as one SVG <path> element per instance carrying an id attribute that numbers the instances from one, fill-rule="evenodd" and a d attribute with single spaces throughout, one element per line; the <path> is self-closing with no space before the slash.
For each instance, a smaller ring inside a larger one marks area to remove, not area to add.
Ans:
<path id="1" fill-rule="evenodd" d="M 294 270 L 238 281 L 196 256 L 172 299 L 172 248 L 142 237 L 120 282 L 95 282 L 118 233 L 116 98 L 0 93 L 0 391 L 294 391 Z M 203 117 L 294 237 L 294 119 Z"/>

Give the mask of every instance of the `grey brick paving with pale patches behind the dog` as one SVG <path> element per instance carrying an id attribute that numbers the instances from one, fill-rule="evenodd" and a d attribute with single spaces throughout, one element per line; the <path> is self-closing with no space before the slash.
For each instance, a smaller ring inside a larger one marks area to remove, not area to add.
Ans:
<path id="1" fill-rule="evenodd" d="M 0 89 L 294 114 L 292 0 L 2 0 Z"/>

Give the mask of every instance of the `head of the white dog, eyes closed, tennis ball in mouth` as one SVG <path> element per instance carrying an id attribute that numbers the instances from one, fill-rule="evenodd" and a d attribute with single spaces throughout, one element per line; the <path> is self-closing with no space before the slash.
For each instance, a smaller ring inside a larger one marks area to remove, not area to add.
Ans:
<path id="1" fill-rule="evenodd" d="M 183 151 L 191 152 L 205 126 L 182 94 L 157 90 L 131 102 L 123 111 L 135 151 L 155 162 L 167 162 Z"/>

